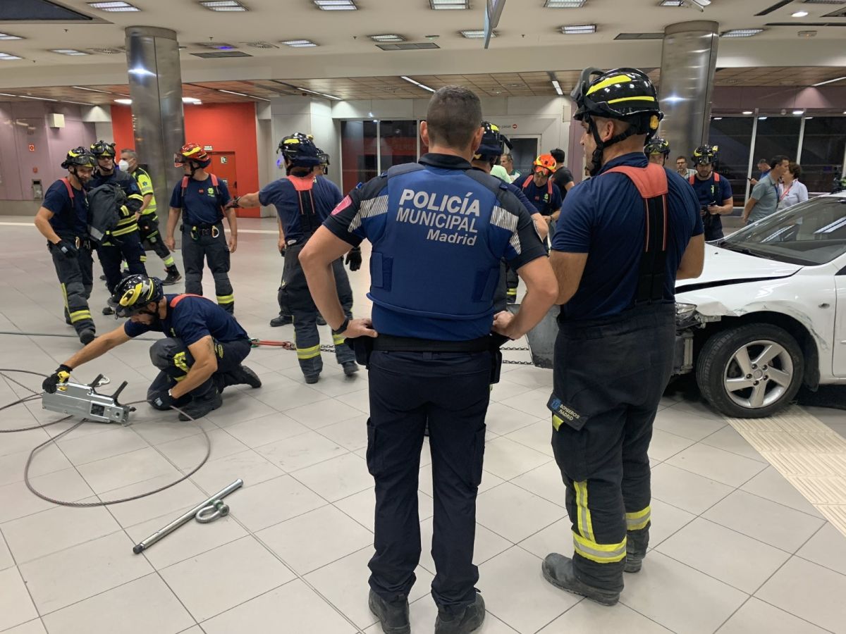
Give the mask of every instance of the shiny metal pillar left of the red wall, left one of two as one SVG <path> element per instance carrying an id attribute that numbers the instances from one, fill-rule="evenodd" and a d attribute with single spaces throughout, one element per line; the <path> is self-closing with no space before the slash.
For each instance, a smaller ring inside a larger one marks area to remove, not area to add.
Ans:
<path id="1" fill-rule="evenodd" d="M 185 142 L 176 31 L 130 26 L 126 30 L 126 62 L 135 151 L 148 167 L 159 214 L 166 221 L 170 194 L 182 178 L 181 171 L 173 167 L 173 153 Z"/>

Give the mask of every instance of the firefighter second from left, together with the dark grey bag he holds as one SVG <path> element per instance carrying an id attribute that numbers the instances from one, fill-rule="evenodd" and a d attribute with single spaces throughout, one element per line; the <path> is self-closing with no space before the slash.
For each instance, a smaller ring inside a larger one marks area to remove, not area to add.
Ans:
<path id="1" fill-rule="evenodd" d="M 141 247 L 138 221 L 135 220 L 135 213 L 144 204 L 144 197 L 135 178 L 115 169 L 113 143 L 97 141 L 91 145 L 91 154 L 97 161 L 94 178 L 89 185 L 91 216 L 94 216 L 91 238 L 96 243 L 97 256 L 106 275 L 106 287 L 109 293 L 113 293 L 124 276 L 121 260 L 126 261 L 130 274 L 147 274 L 142 261 L 144 248 Z M 107 306 L 102 312 L 112 314 L 113 309 Z"/>

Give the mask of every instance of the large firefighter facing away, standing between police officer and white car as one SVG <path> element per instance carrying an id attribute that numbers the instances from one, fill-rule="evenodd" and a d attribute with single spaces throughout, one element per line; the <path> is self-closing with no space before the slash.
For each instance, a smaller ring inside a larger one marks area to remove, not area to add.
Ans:
<path id="1" fill-rule="evenodd" d="M 673 370 L 674 287 L 700 275 L 693 190 L 643 148 L 662 112 L 640 70 L 583 71 L 574 118 L 591 178 L 570 192 L 552 241 L 558 317 L 552 450 L 566 485 L 574 555 L 547 555 L 552 585 L 616 604 L 649 541 L 647 450 Z"/>

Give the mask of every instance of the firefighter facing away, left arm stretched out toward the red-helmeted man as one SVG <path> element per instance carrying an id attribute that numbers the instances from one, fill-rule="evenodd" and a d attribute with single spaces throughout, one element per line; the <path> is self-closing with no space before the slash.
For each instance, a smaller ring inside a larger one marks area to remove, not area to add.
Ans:
<path id="1" fill-rule="evenodd" d="M 303 268 L 299 264 L 299 253 L 343 195 L 335 183 L 323 178 L 321 152 L 309 136 L 302 133 L 286 136 L 279 142 L 277 151 L 283 156 L 288 176 L 266 185 L 260 192 L 239 196 L 235 199 L 235 205 L 261 204 L 276 207 L 280 232 L 285 240 L 285 264 L 282 287 L 279 289 L 279 306 L 286 307 L 293 315 L 297 358 L 305 382 L 316 383 L 323 369 L 320 332 L 317 330 L 318 313 L 305 281 Z M 349 269 L 357 271 L 361 265 L 361 250 L 356 246 L 348 251 Z M 332 263 L 332 271 L 338 284 L 338 300 L 343 306 L 343 313 L 348 319 L 352 319 L 353 291 L 349 287 L 349 277 L 343 270 L 341 257 Z M 359 366 L 355 363 L 352 349 L 343 345 L 344 336 L 333 333 L 332 342 L 335 344 L 335 357 L 343 367 L 343 373 L 352 376 L 358 372 Z"/>

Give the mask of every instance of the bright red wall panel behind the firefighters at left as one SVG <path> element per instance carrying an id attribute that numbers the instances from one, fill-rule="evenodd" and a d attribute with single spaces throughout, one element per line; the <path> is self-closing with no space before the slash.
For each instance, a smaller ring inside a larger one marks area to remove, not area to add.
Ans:
<path id="1" fill-rule="evenodd" d="M 186 106 L 185 140 L 198 145 L 211 145 L 216 152 L 235 152 L 238 189 L 249 194 L 259 189 L 258 150 L 256 147 L 255 104 L 221 103 Z M 112 107 L 112 128 L 118 149 L 135 147 L 132 131 L 132 110 L 127 106 Z M 180 139 L 173 140 L 179 150 Z M 171 150 L 168 148 L 168 150 Z M 140 157 L 144 162 L 144 157 Z M 238 216 L 257 218 L 259 209 L 239 209 Z"/>

